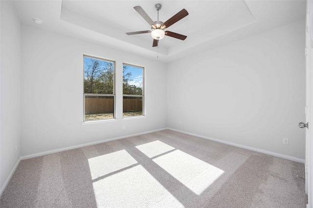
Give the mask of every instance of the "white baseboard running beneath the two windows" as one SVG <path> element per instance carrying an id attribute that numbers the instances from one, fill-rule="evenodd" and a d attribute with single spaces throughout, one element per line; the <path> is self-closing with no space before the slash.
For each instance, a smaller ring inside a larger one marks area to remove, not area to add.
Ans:
<path id="1" fill-rule="evenodd" d="M 148 132 L 135 133 L 135 134 L 131 134 L 131 135 L 120 136 L 120 137 L 115 137 L 115 138 L 111 138 L 111 139 L 105 139 L 105 140 L 101 140 L 101 141 L 90 142 L 90 143 L 70 146 L 70 147 L 66 147 L 66 148 L 60 148 L 60 149 L 56 149 L 56 150 L 44 151 L 44 152 L 39 152 L 39 153 L 35 153 L 35 154 L 28 154 L 28 155 L 22 156 L 21 160 L 25 160 L 25 159 L 29 159 L 29 158 L 33 158 L 33 157 L 39 157 L 39 156 L 43 156 L 43 155 L 47 155 L 47 154 L 53 154 L 53 153 L 57 153 L 60 151 L 67 151 L 67 150 L 73 150 L 73 149 L 77 149 L 77 148 L 87 147 L 90 145 L 96 145 L 96 144 L 109 142 L 109 141 L 113 141 L 113 140 L 117 140 L 117 139 L 125 139 L 128 137 L 138 136 L 138 135 L 142 135 L 142 134 L 146 134 L 146 133 L 159 132 L 162 130 L 167 130 L 167 128 L 157 129 L 157 130 L 148 131 Z"/>

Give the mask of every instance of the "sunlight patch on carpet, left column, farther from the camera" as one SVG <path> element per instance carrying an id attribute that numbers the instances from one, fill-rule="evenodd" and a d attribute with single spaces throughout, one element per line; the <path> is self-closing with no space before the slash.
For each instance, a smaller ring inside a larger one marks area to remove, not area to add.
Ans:
<path id="1" fill-rule="evenodd" d="M 88 159 L 88 163 L 93 180 L 108 173 L 132 166 L 137 161 L 126 150 L 121 150 L 90 158 Z"/>

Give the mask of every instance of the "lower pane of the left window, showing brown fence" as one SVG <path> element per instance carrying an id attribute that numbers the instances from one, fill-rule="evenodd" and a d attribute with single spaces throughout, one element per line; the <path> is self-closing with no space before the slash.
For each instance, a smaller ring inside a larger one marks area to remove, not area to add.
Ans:
<path id="1" fill-rule="evenodd" d="M 114 118 L 113 96 L 85 96 L 85 120 Z"/>

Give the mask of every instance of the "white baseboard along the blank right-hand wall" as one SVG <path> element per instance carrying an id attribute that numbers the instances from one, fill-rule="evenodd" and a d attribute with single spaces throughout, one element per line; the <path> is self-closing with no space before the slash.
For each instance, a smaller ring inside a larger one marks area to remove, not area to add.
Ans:
<path id="1" fill-rule="evenodd" d="M 220 139 L 214 139 L 214 138 L 211 138 L 211 137 L 208 137 L 208 136 L 202 136 L 202 135 L 195 134 L 195 133 L 184 132 L 184 131 L 180 131 L 180 130 L 177 130 L 177 129 L 171 129 L 171 128 L 167 128 L 167 129 L 175 131 L 175 132 L 189 134 L 189 135 L 192 135 L 192 136 L 197 136 L 197 137 L 200 137 L 200 138 L 203 138 L 203 139 L 212 140 L 212 141 L 215 141 L 215 142 L 224 143 L 224 144 L 235 146 L 235 147 L 240 147 L 240 148 L 251 150 L 251 151 L 257 151 L 257 152 L 265 153 L 265 154 L 268 154 L 268 155 L 284 158 L 284 159 L 287 159 L 287 160 L 292 160 L 292 161 L 299 162 L 299 163 L 305 163 L 304 159 L 297 158 L 297 157 L 291 157 L 291 156 L 288 156 L 288 155 L 285 155 L 285 154 L 279 154 L 279 153 L 272 152 L 272 151 L 261 150 L 261 149 L 257 149 L 257 148 L 253 148 L 253 147 L 249 147 L 249 146 L 245 146 L 245 145 L 236 144 L 236 143 L 233 143 L 233 142 L 227 142 L 227 141 L 223 141 L 223 140 L 220 140 Z"/>

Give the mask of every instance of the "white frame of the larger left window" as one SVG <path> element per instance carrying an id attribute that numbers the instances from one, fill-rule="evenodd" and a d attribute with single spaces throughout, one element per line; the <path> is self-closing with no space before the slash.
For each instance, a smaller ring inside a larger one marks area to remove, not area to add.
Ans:
<path id="1" fill-rule="evenodd" d="M 92 58 L 92 59 L 97 59 L 100 61 L 105 61 L 105 62 L 111 62 L 113 63 L 113 94 L 90 94 L 90 93 L 85 93 L 85 57 L 87 58 Z M 83 55 L 83 124 L 87 123 L 103 123 L 106 121 L 112 121 L 116 119 L 116 89 L 115 89 L 115 84 L 116 84 L 116 61 L 108 58 L 102 58 L 102 57 L 96 57 L 96 56 L 90 56 L 90 55 Z M 85 100 L 86 96 L 112 96 L 113 97 L 113 118 L 106 118 L 106 119 L 94 119 L 94 120 L 86 120 L 86 106 L 85 106 Z"/>

